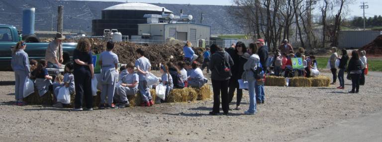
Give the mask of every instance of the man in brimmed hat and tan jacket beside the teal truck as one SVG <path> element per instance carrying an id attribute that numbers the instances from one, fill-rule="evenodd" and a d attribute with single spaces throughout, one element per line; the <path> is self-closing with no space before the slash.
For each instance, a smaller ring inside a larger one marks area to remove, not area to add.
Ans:
<path id="1" fill-rule="evenodd" d="M 48 62 L 47 68 L 60 68 L 61 63 L 64 61 L 62 55 L 62 40 L 65 40 L 65 36 L 61 33 L 56 33 L 54 40 L 49 43 L 48 48 L 45 51 L 45 60 Z"/>

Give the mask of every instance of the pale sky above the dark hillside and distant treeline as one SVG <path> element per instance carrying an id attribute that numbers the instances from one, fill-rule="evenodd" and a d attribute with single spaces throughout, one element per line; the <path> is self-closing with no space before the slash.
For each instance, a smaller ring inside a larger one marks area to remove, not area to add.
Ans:
<path id="1" fill-rule="evenodd" d="M 119 2 L 147 2 L 147 3 L 173 3 L 173 4 L 208 4 L 208 5 L 232 5 L 232 0 L 90 0 L 90 1 L 119 1 Z M 363 16 L 363 10 L 360 8 L 361 2 L 368 2 L 368 9 L 365 9 L 366 17 L 382 15 L 380 9 L 382 0 L 354 0 L 349 5 L 348 17 Z"/>

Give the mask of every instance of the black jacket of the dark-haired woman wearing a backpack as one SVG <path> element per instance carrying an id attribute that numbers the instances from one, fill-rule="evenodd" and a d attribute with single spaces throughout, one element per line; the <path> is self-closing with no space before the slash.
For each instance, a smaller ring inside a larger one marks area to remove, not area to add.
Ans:
<path id="1" fill-rule="evenodd" d="M 225 59 L 226 63 L 228 63 L 232 69 L 234 63 L 231 58 L 231 56 L 226 52 L 226 51 L 216 51 L 215 53 L 212 54 L 211 60 L 209 61 L 209 68 L 211 70 L 211 80 L 229 80 L 230 77 L 228 78 L 222 78 L 218 75 L 218 72 L 215 69 L 215 66 L 220 65 L 221 62 L 223 61 L 223 58 Z"/>

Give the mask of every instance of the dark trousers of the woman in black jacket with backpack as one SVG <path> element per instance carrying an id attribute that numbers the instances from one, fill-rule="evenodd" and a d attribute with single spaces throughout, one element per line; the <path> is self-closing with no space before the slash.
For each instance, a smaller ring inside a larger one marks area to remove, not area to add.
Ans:
<path id="1" fill-rule="evenodd" d="M 229 80 L 212 80 L 213 90 L 213 108 L 212 112 L 219 113 L 220 106 L 220 93 L 221 93 L 221 107 L 224 113 L 228 113 L 228 82 Z"/>

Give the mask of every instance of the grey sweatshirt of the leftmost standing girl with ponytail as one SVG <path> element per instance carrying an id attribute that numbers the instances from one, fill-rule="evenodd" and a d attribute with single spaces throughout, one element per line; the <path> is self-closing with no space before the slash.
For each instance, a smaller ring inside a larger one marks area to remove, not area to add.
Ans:
<path id="1" fill-rule="evenodd" d="M 30 74 L 28 54 L 22 49 L 12 55 L 10 65 L 13 71 L 25 71 L 26 74 Z"/>

